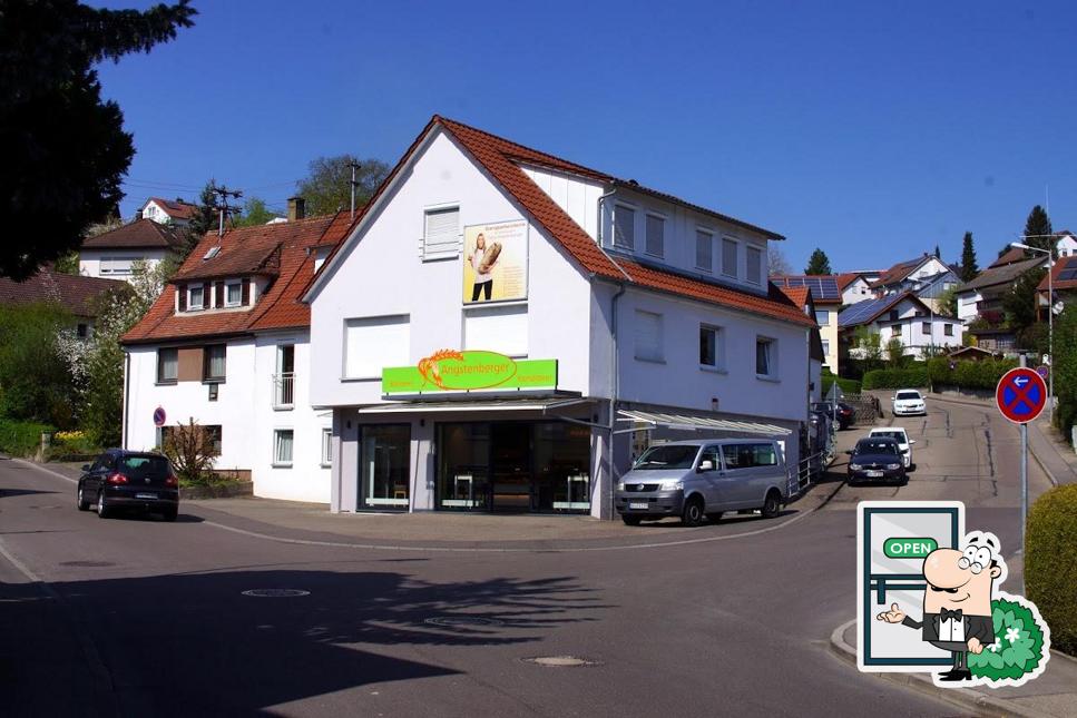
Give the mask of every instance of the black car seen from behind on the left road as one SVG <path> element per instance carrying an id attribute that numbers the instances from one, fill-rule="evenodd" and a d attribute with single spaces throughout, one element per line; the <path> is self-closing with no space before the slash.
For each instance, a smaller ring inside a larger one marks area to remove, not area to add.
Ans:
<path id="1" fill-rule="evenodd" d="M 88 511 L 96 503 L 97 515 L 102 519 L 129 509 L 175 521 L 179 481 L 160 454 L 109 449 L 92 465 L 82 466 L 77 502 L 79 511 Z"/>

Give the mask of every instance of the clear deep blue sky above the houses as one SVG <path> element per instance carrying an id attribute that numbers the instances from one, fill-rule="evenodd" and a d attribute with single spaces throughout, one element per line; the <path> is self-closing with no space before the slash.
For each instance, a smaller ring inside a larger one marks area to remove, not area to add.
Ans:
<path id="1" fill-rule="evenodd" d="M 437 112 L 780 232 L 796 271 L 966 230 L 983 266 L 1048 187 L 1077 229 L 1077 3 L 193 3 L 100 67 L 125 216 L 209 177 L 282 207 L 311 159 L 392 164 Z"/>

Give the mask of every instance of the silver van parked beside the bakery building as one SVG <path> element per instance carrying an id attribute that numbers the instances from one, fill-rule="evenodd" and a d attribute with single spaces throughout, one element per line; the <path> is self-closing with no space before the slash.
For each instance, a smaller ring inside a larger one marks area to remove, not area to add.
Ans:
<path id="1" fill-rule="evenodd" d="M 786 500 L 785 459 L 772 439 L 677 441 L 652 446 L 617 483 L 621 520 L 681 517 L 695 527 L 724 511 L 760 509 L 772 519 Z"/>

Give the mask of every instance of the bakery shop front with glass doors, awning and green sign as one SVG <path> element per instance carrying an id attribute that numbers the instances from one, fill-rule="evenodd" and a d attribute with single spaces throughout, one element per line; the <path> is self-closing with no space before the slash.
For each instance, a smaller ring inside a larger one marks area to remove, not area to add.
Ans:
<path id="1" fill-rule="evenodd" d="M 353 411 L 359 475 L 341 509 L 590 513 L 597 402 L 557 391 L 556 360 L 444 350 L 382 372 Z"/>

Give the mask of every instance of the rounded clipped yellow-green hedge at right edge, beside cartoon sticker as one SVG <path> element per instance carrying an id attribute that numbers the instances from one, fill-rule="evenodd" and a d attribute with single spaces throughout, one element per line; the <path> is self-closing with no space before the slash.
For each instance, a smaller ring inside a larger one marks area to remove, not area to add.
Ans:
<path id="1" fill-rule="evenodd" d="M 1051 647 L 1077 655 L 1077 484 L 1056 486 L 1028 513 L 1025 590 L 1050 627 Z"/>

